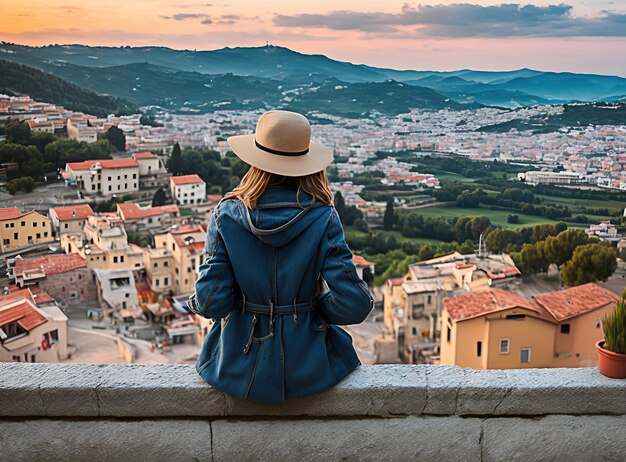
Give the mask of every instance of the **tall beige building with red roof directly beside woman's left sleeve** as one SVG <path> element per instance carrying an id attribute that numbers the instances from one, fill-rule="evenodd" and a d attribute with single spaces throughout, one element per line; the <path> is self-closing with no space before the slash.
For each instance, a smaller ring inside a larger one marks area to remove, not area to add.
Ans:
<path id="1" fill-rule="evenodd" d="M 206 229 L 190 225 L 154 236 L 154 249 L 147 249 L 144 265 L 150 289 L 160 293 L 190 294 L 195 290 L 199 267 L 204 263 Z"/>

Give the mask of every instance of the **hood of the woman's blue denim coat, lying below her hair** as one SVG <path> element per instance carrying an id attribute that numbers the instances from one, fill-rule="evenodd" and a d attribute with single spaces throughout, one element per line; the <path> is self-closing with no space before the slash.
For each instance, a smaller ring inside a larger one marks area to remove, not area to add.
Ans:
<path id="1" fill-rule="evenodd" d="M 286 185 L 270 186 L 254 210 L 243 202 L 240 207 L 238 223 L 272 247 L 289 244 L 314 222 L 329 218 L 329 206 Z"/>

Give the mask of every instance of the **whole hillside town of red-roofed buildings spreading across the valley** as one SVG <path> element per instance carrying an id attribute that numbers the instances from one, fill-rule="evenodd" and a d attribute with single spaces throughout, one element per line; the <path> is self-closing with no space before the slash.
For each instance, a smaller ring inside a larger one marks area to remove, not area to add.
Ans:
<path id="1" fill-rule="evenodd" d="M 351 182 L 356 174 L 378 172 L 383 185 L 418 191 L 441 187 L 435 175 L 413 171 L 393 157 L 401 151 L 455 152 L 547 169 L 520 177 L 529 183 L 626 189 L 624 127 L 533 136 L 474 131 L 546 110 L 558 112 L 555 107 L 412 111 L 380 120 L 319 115 L 331 123 L 314 129 L 345 160 L 335 164 L 342 181 L 332 183 L 333 191 L 366 219 L 380 217 L 385 203 L 364 200 L 363 186 Z M 213 321 L 190 313 L 187 298 L 221 196 L 209 194 L 197 174 L 168 171 L 172 146 L 178 142 L 224 155 L 226 138 L 249 133 L 257 117 L 257 112 L 158 113 L 149 126 L 139 115 L 101 119 L 28 97 L 0 97 L 0 120 L 26 121 L 33 132 L 86 143 L 110 127 L 126 136 L 124 153 L 68 162 L 58 172 L 62 204 L 0 208 L 6 272 L 0 361 L 193 362 Z M 389 156 L 378 158 L 381 151 Z M 557 167 L 563 170 L 552 171 Z M 1 168 L 6 173 L 12 166 Z M 157 191 L 164 195 L 161 205 L 152 204 Z M 113 211 L 89 205 L 120 197 Z M 132 242 L 137 235 L 148 239 Z M 610 222 L 592 224 L 587 235 L 624 247 Z M 364 270 L 375 273 L 376 262 L 359 255 L 353 261 L 359 276 Z M 373 290 L 380 309 L 364 330 L 349 328 L 363 363 L 498 369 L 593 365 L 600 320 L 619 299 L 595 283 L 568 289 L 542 285 L 525 277 L 507 253 L 490 253 L 482 244 L 474 253 L 455 251 L 410 264 L 404 276 Z M 93 351 L 90 345 L 99 344 Z"/>

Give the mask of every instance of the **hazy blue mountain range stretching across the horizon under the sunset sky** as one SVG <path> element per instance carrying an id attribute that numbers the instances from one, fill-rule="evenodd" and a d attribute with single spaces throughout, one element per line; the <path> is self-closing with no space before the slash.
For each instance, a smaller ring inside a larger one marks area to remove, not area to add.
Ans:
<path id="1" fill-rule="evenodd" d="M 513 108 L 626 101 L 626 79 L 618 76 L 532 69 L 394 70 L 276 46 L 195 51 L 85 45 L 29 47 L 2 42 L 0 58 L 40 69 L 102 95 L 174 112 L 272 107 L 362 117 L 398 114 L 410 108 Z"/>

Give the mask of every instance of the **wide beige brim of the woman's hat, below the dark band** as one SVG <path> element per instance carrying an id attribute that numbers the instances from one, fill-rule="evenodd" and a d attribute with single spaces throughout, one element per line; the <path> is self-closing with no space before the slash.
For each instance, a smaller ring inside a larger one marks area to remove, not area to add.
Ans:
<path id="1" fill-rule="evenodd" d="M 333 161 L 333 152 L 322 143 L 311 141 L 309 152 L 302 156 L 271 154 L 256 146 L 254 135 L 228 138 L 237 157 L 246 164 L 283 176 L 305 176 L 324 170 Z"/>

